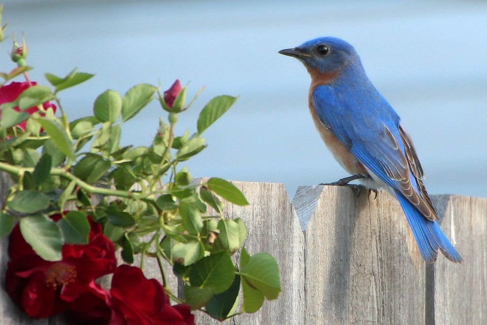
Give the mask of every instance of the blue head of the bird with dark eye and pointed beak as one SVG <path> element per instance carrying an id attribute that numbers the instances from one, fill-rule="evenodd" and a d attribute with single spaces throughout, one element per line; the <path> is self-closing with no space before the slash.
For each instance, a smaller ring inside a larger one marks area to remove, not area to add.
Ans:
<path id="1" fill-rule="evenodd" d="M 343 70 L 350 63 L 360 64 L 354 47 L 335 37 L 320 37 L 279 53 L 297 58 L 310 73 L 330 74 Z"/>

